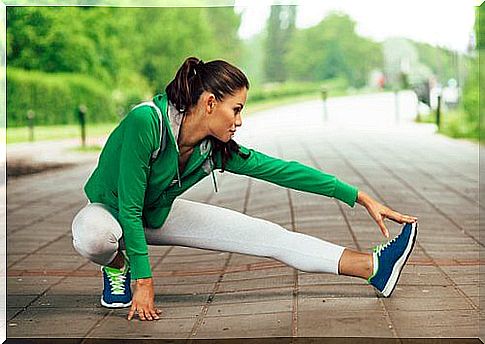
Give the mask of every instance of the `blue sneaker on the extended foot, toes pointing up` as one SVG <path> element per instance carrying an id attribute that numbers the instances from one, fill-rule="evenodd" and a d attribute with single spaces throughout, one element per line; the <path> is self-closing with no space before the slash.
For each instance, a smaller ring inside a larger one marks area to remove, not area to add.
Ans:
<path id="1" fill-rule="evenodd" d="M 374 265 L 377 266 L 367 283 L 376 289 L 379 296 L 391 296 L 401 270 L 411 254 L 417 234 L 417 222 L 406 223 L 398 236 L 386 244 L 374 247 Z"/>

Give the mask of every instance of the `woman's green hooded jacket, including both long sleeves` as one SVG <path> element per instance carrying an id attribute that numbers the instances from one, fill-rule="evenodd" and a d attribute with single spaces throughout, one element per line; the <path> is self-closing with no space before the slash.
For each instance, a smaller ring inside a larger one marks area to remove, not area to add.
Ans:
<path id="1" fill-rule="evenodd" d="M 221 168 L 220 153 L 212 156 L 211 141 L 206 138 L 194 148 L 179 176 L 179 151 L 167 114 L 167 95 L 156 95 L 153 102 L 161 110 L 168 129 L 164 132 L 169 135 L 158 158 L 151 161 L 152 152 L 160 147 L 159 116 L 149 106 L 137 107 L 110 134 L 84 186 L 90 202 L 105 204 L 119 221 L 134 279 L 152 276 L 144 227 L 161 227 L 176 197 Z M 351 207 L 355 204 L 357 188 L 333 175 L 243 146 L 240 150 L 249 157 L 233 154 L 226 162 L 227 171 L 335 197 Z"/>

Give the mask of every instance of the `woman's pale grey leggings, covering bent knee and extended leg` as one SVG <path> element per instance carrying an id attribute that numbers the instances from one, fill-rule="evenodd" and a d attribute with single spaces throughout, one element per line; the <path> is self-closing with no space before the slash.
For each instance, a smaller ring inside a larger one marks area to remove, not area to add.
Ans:
<path id="1" fill-rule="evenodd" d="M 119 222 L 101 203 L 89 203 L 72 222 L 74 248 L 100 265 L 124 248 Z M 338 274 L 344 247 L 289 231 L 275 223 L 183 199 L 161 228 L 145 228 L 149 245 L 176 245 L 276 259 L 306 272 Z"/>

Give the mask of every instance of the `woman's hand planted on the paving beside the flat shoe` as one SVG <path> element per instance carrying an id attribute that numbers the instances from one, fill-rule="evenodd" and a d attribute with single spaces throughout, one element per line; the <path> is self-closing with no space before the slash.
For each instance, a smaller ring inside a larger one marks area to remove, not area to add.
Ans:
<path id="1" fill-rule="evenodd" d="M 135 313 L 138 314 L 140 320 L 158 320 L 161 310 L 155 307 L 153 291 L 153 279 L 142 278 L 136 280 L 135 293 L 133 294 L 133 302 L 131 304 L 130 312 L 128 313 L 128 320 L 131 320 Z"/>

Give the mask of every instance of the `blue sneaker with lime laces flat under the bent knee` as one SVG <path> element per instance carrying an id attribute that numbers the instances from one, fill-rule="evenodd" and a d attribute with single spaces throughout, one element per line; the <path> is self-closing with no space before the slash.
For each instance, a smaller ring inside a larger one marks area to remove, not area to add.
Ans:
<path id="1" fill-rule="evenodd" d="M 123 308 L 131 306 L 130 267 L 125 264 L 123 269 L 103 266 L 103 295 L 101 305 L 108 308 Z"/>

